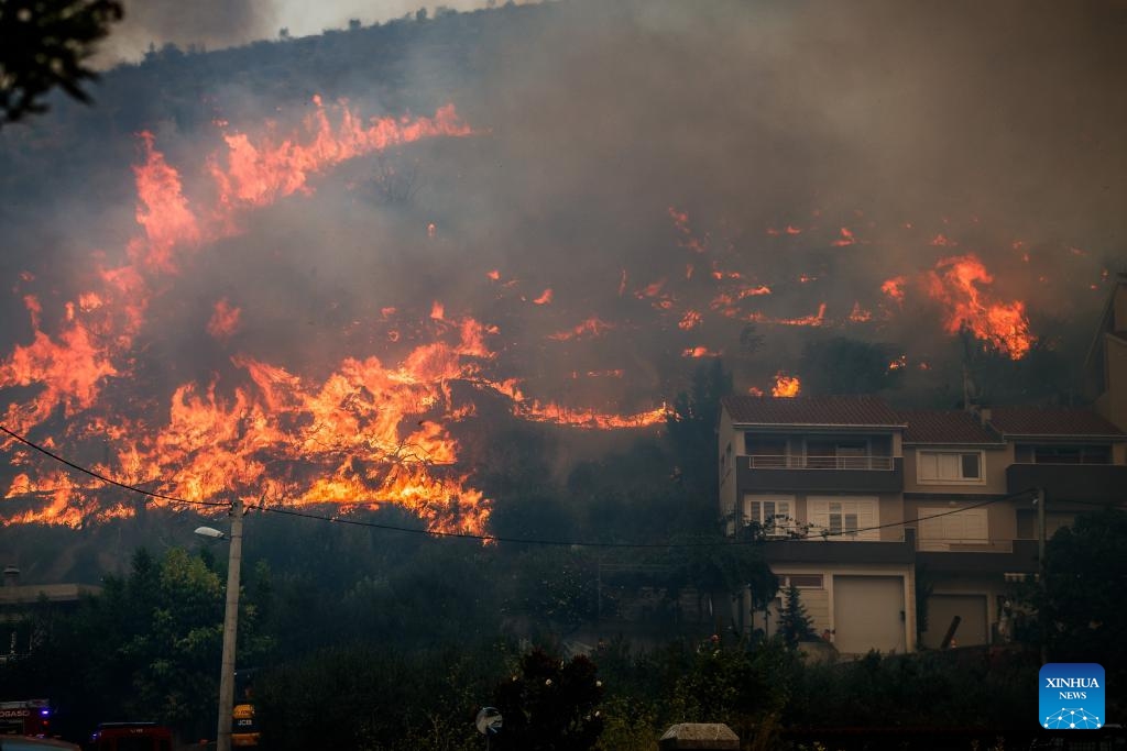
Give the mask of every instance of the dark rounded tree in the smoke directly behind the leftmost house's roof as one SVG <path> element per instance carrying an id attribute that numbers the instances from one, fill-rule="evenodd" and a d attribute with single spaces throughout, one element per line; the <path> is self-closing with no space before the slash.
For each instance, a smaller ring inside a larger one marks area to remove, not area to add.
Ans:
<path id="1" fill-rule="evenodd" d="M 802 349 L 802 391 L 810 395 L 875 394 L 898 388 L 904 368 L 891 367 L 900 352 L 845 337 L 813 341 Z"/>

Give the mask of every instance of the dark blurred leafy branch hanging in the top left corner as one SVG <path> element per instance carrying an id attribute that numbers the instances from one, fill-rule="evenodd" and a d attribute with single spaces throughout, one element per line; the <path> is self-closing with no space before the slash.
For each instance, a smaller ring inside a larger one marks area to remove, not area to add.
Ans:
<path id="1" fill-rule="evenodd" d="M 0 125 L 46 111 L 55 87 L 89 104 L 85 63 L 122 16 L 117 0 L 0 0 Z"/>

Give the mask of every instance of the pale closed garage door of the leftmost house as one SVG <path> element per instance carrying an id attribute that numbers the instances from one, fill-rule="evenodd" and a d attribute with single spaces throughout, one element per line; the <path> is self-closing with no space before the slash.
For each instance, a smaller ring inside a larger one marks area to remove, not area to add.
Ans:
<path id="1" fill-rule="evenodd" d="M 906 652 L 902 576 L 834 576 L 834 644 L 841 652 Z"/>

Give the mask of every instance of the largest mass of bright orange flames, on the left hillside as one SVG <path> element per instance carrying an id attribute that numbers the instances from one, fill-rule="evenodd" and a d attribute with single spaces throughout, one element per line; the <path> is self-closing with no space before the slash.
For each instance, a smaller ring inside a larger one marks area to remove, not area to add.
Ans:
<path id="1" fill-rule="evenodd" d="M 103 288 L 83 292 L 77 305 L 65 303 L 55 333 L 41 329 L 42 305 L 36 296 L 26 296 L 33 338 L 0 364 L 0 387 L 34 387 L 36 393 L 8 404 L 5 426 L 28 433 L 61 410 L 70 442 L 104 444 L 104 457 L 88 463 L 95 471 L 188 501 L 237 492 L 345 509 L 390 502 L 408 507 L 436 529 L 483 531 L 488 503 L 467 484 L 464 472 L 453 468 L 456 441 L 442 423 L 425 417 L 458 411 L 447 384 L 474 377 L 476 360 L 489 357 L 482 342 L 487 327 L 472 319 L 447 322 L 438 302 L 431 312 L 436 325 L 444 324 L 437 339 L 392 366 L 371 356 L 346 358 L 327 377 L 312 379 L 240 355 L 231 359 L 245 375 L 240 385 L 221 391 L 215 379 L 180 384 L 159 427 L 119 410 L 106 412 L 109 404 L 101 392 L 133 376 L 132 347 L 152 289 L 167 284 L 161 277 L 177 275 L 177 253 L 237 234 L 247 211 L 311 191 L 312 177 L 339 162 L 393 144 L 470 134 L 452 107 L 434 118 L 364 122 L 347 107 L 336 108 L 330 118 L 320 99 L 314 105 L 303 127 L 286 137 L 224 134 L 225 151 L 205 160 L 215 186 L 211 205 L 188 199 L 179 171 L 158 150 L 154 136 L 141 134 L 142 162 L 134 169 L 140 232 L 128 243 L 130 262 L 103 270 Z M 23 280 L 30 284 L 33 278 Z M 241 313 L 219 299 L 207 332 L 229 339 Z M 96 488 L 42 466 L 26 450 L 17 452 L 12 464 L 25 470 L 15 475 L 6 498 L 39 502 L 9 522 L 77 526 L 127 513 L 91 503 Z"/>

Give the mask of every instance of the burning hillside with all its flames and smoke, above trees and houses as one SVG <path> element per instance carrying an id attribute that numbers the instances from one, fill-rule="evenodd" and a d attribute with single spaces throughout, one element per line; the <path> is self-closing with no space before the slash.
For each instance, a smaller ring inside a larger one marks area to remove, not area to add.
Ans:
<path id="1" fill-rule="evenodd" d="M 201 7 L 115 43 L 354 16 Z M 1127 265 L 1125 25 L 573 0 L 109 71 L 0 132 L 5 424 L 174 495 L 480 529 L 460 447 L 498 412 L 659 424 L 699 358 L 771 393 L 832 336 L 887 342 L 915 396 L 961 393 L 960 329 L 1083 351 Z M 0 481 L 7 517 L 105 508 L 27 452 Z"/>

